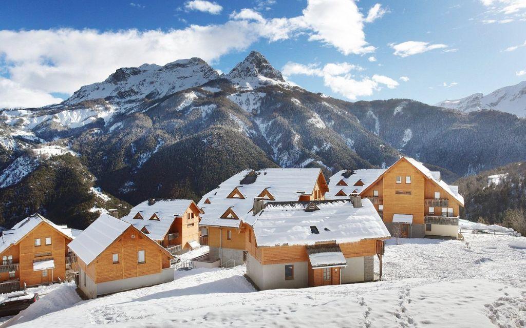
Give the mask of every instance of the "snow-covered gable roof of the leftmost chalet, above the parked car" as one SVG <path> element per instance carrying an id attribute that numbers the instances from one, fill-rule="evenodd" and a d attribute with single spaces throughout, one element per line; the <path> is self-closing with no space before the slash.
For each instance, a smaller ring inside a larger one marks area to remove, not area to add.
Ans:
<path id="1" fill-rule="evenodd" d="M 75 237 L 72 230 L 76 229 L 71 229 L 67 226 L 56 225 L 40 214 L 33 214 L 21 220 L 19 223 L 14 225 L 13 228 L 2 231 L 2 237 L 0 238 L 0 253 L 6 250 L 9 246 L 17 244 L 18 241 L 22 240 L 22 238 L 24 238 L 31 230 L 36 228 L 42 222 L 47 223 L 69 238 L 73 239 Z"/>

